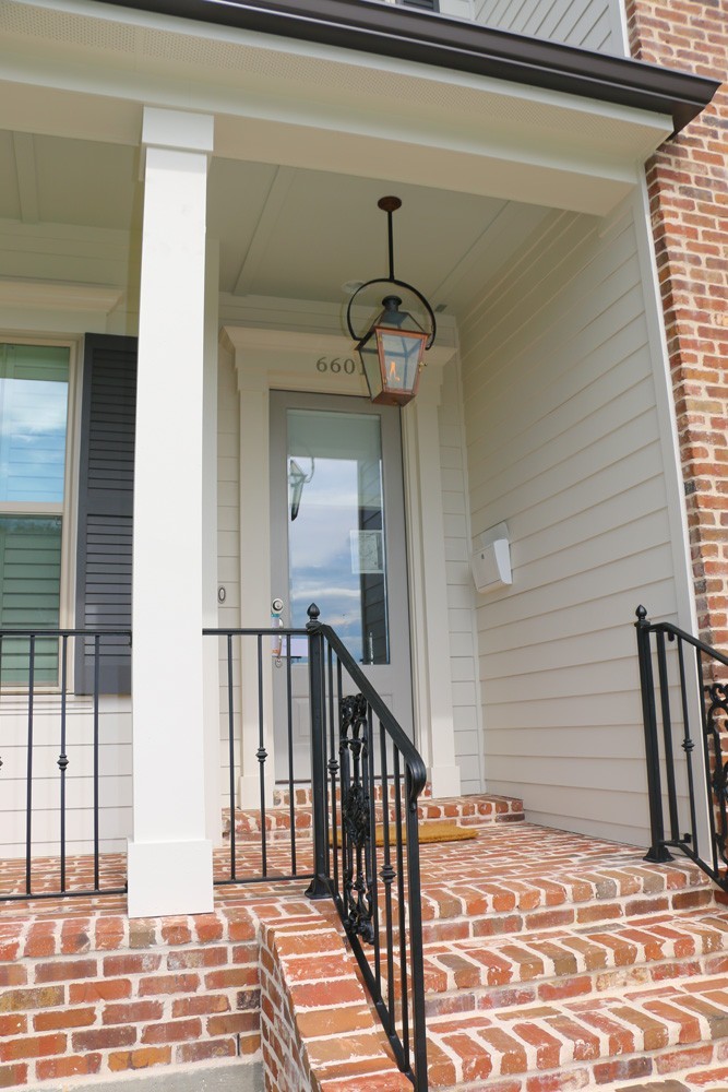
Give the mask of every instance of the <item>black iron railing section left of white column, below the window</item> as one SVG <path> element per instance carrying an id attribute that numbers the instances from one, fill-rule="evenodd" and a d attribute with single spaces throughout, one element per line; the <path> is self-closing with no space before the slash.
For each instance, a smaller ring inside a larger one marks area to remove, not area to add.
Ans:
<path id="1" fill-rule="evenodd" d="M 104 852 L 126 841 L 103 836 L 103 731 L 99 677 L 131 644 L 129 630 L 0 630 L 0 792 L 5 858 L 0 899 L 121 894 L 123 865 Z M 83 645 L 93 685 L 76 693 L 72 661 Z M 117 743 L 118 740 L 115 740 Z M 49 752 L 53 753 L 52 759 Z M 91 763 L 88 753 L 91 752 Z M 114 805 L 118 799 L 114 799 Z M 19 824 L 13 838 L 11 827 Z M 72 830 L 70 830 L 72 826 Z"/>

